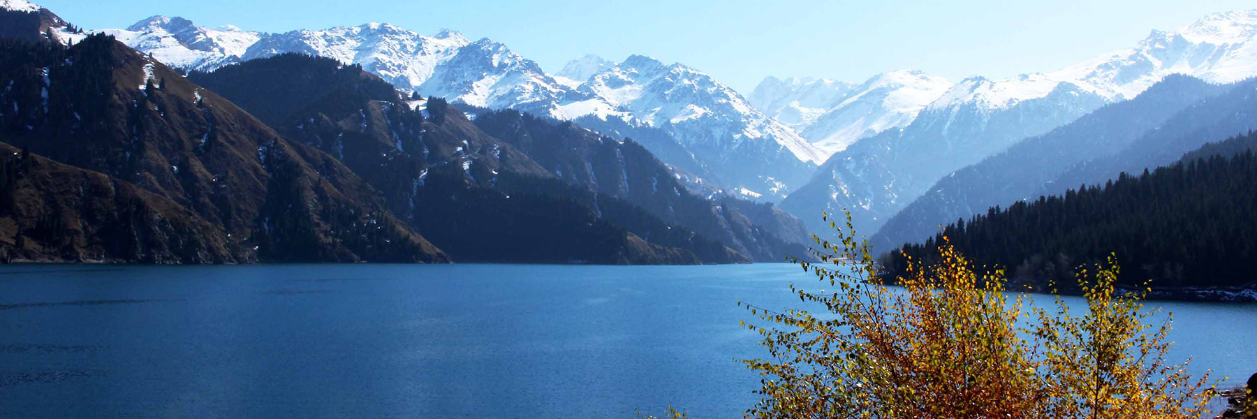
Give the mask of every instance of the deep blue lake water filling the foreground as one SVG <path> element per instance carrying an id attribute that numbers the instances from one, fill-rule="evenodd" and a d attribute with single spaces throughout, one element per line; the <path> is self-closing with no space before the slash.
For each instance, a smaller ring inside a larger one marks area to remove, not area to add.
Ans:
<path id="1" fill-rule="evenodd" d="M 740 418 L 788 264 L 0 267 L 3 416 Z M 1155 302 L 1257 371 L 1257 304 Z"/>

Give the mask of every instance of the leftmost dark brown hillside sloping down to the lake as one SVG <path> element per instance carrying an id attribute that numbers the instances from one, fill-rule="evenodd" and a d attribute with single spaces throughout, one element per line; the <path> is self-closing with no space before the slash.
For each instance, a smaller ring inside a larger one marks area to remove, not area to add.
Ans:
<path id="1" fill-rule="evenodd" d="M 166 65 L 112 36 L 93 35 L 73 47 L 50 40 L 0 39 L 0 141 L 53 161 L 129 184 L 168 199 L 167 220 L 190 234 L 138 237 L 145 252 L 74 239 L 126 243 L 83 208 L 44 205 L 68 228 L 57 243 L 70 250 L 31 248 L 18 225 L 0 243 L 10 254 L 39 260 L 162 262 L 442 262 L 447 257 L 397 220 L 361 177 L 312 147 L 290 143 L 234 103 L 192 84 Z M 11 111 L 10 111 L 11 109 Z M 52 167 L 52 166 L 50 166 Z M 92 177 L 92 175 L 88 175 Z M 35 177 L 38 179 L 38 177 Z M 55 184 L 18 184 L 19 187 Z M 122 190 L 129 186 L 117 186 Z M 38 190 L 45 196 L 64 196 Z M 94 193 L 89 193 L 94 194 Z M 78 194 L 84 196 L 83 194 Z M 93 195 L 99 196 L 99 195 Z M 104 203 L 99 199 L 79 200 Z M 35 210 L 23 200 L 20 211 Z M 121 204 L 119 204 L 121 205 Z M 123 211 L 108 209 L 108 211 Z M 155 206 L 155 208 L 156 208 Z M 14 221 L 31 216 L 14 213 Z M 196 228 L 192 228 L 196 226 Z M 221 248 L 202 252 L 204 235 Z M 121 240 L 121 242 L 119 242 Z M 172 254 L 168 252 L 175 252 Z M 178 250 L 182 249 L 182 250 Z M 177 250 L 177 252 L 176 252 Z M 205 253 L 205 254 L 202 254 Z M 222 253 L 221 255 L 214 255 Z"/>

